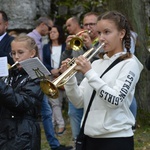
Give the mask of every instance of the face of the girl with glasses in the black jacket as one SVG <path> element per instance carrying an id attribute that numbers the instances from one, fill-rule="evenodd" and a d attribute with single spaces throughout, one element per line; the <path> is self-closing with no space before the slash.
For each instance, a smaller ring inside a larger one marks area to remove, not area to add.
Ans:
<path id="1" fill-rule="evenodd" d="M 11 44 L 11 55 L 14 60 L 14 62 L 23 61 L 29 58 L 32 58 L 35 56 L 36 51 L 34 49 L 28 49 L 26 42 L 17 42 L 13 41 Z"/>

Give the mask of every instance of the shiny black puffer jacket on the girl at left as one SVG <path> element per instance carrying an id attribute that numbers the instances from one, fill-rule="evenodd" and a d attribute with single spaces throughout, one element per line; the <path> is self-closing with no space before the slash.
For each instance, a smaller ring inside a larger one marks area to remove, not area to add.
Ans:
<path id="1" fill-rule="evenodd" d="M 22 69 L 0 79 L 0 150 L 40 150 L 40 113 L 43 93 L 39 80 Z"/>

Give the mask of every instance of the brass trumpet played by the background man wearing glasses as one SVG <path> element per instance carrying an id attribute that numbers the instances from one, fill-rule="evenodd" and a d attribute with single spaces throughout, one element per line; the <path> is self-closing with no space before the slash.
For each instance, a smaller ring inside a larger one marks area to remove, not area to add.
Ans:
<path id="1" fill-rule="evenodd" d="M 83 30 L 81 32 L 78 32 L 74 38 L 70 40 L 70 47 L 74 51 L 79 51 L 83 47 L 83 40 L 81 38 L 82 33 L 88 32 L 90 34 L 91 31 Z"/>

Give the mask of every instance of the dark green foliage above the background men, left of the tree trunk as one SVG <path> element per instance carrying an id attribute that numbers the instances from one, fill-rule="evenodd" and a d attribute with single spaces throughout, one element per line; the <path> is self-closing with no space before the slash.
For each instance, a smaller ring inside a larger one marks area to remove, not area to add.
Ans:
<path id="1" fill-rule="evenodd" d="M 59 9 L 61 7 L 67 9 L 65 9 L 66 14 L 59 14 Z M 103 7 L 102 0 L 56 0 L 51 3 L 51 17 L 55 20 L 56 24 L 64 25 L 65 21 L 74 15 L 82 20 L 85 13 L 90 11 L 102 12 Z"/>

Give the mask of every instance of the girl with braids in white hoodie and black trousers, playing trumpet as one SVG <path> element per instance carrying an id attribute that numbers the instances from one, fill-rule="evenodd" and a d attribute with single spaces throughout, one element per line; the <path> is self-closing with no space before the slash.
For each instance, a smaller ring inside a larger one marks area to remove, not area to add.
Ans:
<path id="1" fill-rule="evenodd" d="M 96 91 L 84 126 L 85 150 L 134 150 L 135 118 L 129 107 L 143 65 L 130 52 L 130 26 L 123 14 L 117 11 L 101 14 L 97 32 L 99 42 L 104 43 L 102 59 L 91 65 L 82 55 L 76 58 L 75 69 L 85 78 L 79 86 L 75 76 L 70 78 L 65 85 L 66 94 L 76 107 L 84 108 L 84 118 L 92 91 Z M 122 61 L 100 78 L 117 58 Z M 66 70 L 67 62 L 68 59 L 62 62 L 61 72 Z"/>

